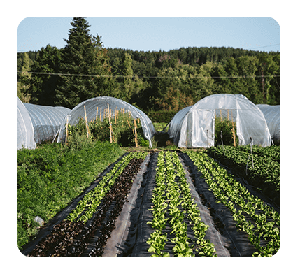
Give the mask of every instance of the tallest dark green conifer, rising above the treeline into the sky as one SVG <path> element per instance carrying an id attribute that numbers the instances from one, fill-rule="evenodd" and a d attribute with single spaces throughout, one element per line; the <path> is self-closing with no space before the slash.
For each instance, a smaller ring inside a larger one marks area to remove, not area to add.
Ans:
<path id="1" fill-rule="evenodd" d="M 62 75 L 56 88 L 56 104 L 69 108 L 114 89 L 113 79 L 103 77 L 110 75 L 110 66 L 100 37 L 89 34 L 90 25 L 83 17 L 74 17 L 71 25 L 60 71 L 75 75 Z"/>

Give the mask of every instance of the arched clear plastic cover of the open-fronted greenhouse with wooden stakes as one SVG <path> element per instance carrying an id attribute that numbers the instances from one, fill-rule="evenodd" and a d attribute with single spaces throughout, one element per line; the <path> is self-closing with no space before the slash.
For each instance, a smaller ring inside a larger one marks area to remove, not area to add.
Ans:
<path id="1" fill-rule="evenodd" d="M 131 104 L 122 101 L 120 99 L 110 97 L 110 96 L 99 96 L 92 99 L 88 99 L 84 102 L 81 102 L 76 107 L 72 109 L 72 111 L 68 115 L 68 123 L 71 125 L 75 125 L 78 123 L 80 117 L 85 117 L 84 106 L 86 109 L 86 116 L 87 121 L 93 121 L 96 119 L 97 116 L 97 107 L 98 107 L 98 117 L 101 113 L 101 120 L 103 120 L 104 109 L 111 109 L 112 117 L 115 116 L 115 110 L 120 110 L 122 108 L 125 109 L 126 112 L 130 111 L 131 116 L 133 118 L 139 118 L 141 120 L 142 128 L 144 136 L 147 140 L 149 140 L 149 145 L 152 147 L 151 138 L 156 133 L 155 128 L 149 119 L 149 117 L 139 110 L 138 108 L 132 106 Z M 66 125 L 66 118 L 64 123 L 62 124 L 59 130 L 59 136 L 57 142 L 61 142 L 65 140 L 65 125 Z"/>

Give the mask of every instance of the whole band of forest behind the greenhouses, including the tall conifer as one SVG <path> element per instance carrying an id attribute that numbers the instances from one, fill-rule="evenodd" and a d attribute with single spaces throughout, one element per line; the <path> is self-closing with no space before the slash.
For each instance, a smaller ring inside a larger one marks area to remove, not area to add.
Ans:
<path id="1" fill-rule="evenodd" d="M 280 105 L 280 52 L 229 47 L 169 51 L 104 48 L 83 17 L 71 22 L 66 46 L 17 52 L 17 95 L 23 102 L 75 107 L 113 96 L 144 112 L 178 111 L 220 93 Z"/>

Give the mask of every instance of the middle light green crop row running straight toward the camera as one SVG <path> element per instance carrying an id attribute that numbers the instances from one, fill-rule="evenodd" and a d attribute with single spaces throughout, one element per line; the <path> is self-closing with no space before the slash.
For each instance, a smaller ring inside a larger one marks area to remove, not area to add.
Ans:
<path id="1" fill-rule="evenodd" d="M 156 187 L 152 194 L 153 219 L 151 224 L 155 229 L 147 243 L 150 245 L 148 252 L 152 257 L 169 257 L 168 252 L 163 252 L 167 241 L 167 233 L 163 230 L 168 224 L 174 235 L 173 252 L 178 257 L 193 257 L 195 250 L 199 256 L 216 256 L 212 243 L 204 239 L 208 226 L 201 222 L 200 211 L 191 197 L 189 184 L 185 178 L 182 164 L 175 152 L 160 152 L 156 168 Z M 169 216 L 169 217 L 167 217 Z M 196 240 L 187 236 L 188 220 Z"/>

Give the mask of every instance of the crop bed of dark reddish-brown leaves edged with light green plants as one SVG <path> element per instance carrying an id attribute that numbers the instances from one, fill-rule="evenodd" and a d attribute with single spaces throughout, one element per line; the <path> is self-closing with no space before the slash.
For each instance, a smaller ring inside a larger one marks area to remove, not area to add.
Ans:
<path id="1" fill-rule="evenodd" d="M 78 215 L 72 215 L 74 220 L 71 221 L 71 218 L 66 218 L 55 225 L 52 232 L 39 241 L 29 256 L 101 256 L 106 241 L 115 228 L 115 220 L 122 211 L 127 194 L 131 189 L 133 177 L 138 172 L 146 154 L 131 153 L 125 156 L 116 166 L 116 169 L 111 170 L 111 176 L 107 177 L 108 184 L 105 188 L 111 184 L 110 180 L 113 179 L 114 181 L 110 188 L 105 190 L 105 196 L 103 197 L 103 192 L 100 192 L 101 200 L 98 199 L 97 195 L 92 197 L 100 203 L 98 204 L 99 207 L 95 208 L 96 213 L 93 214 L 89 211 L 90 206 L 87 205 L 90 204 L 90 200 L 87 199 L 83 213 L 75 209 L 73 213 L 77 212 Z M 119 175 L 116 177 L 116 174 Z M 100 182 L 103 179 L 104 176 Z M 89 193 L 97 194 L 98 191 L 92 190 Z M 91 196 L 88 197 L 91 198 Z M 81 205 L 80 208 L 82 209 Z M 93 215 L 89 224 L 79 220 L 83 215 Z M 91 243 L 93 244 L 91 245 Z"/>

